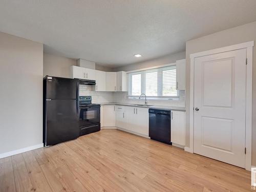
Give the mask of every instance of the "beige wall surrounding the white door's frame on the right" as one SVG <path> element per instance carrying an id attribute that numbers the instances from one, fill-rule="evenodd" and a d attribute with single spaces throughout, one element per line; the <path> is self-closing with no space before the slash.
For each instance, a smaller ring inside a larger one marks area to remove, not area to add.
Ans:
<path id="1" fill-rule="evenodd" d="M 252 164 L 256 165 L 256 22 L 227 29 L 186 42 L 186 145 L 189 145 L 189 92 L 191 53 L 221 48 L 254 40 L 252 87 Z"/>

